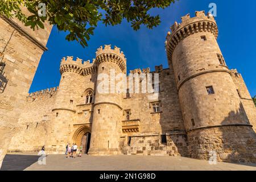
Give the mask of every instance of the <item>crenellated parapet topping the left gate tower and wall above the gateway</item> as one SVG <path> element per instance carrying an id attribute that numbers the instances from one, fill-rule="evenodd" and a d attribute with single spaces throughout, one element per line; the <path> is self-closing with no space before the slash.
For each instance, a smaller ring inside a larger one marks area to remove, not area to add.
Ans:
<path id="1" fill-rule="evenodd" d="M 60 73 L 63 72 L 75 72 L 79 75 L 90 75 L 96 71 L 96 67 L 94 66 L 94 59 L 93 62 L 90 63 L 90 60 L 82 61 L 79 57 L 76 60 L 73 60 L 73 56 L 63 57 L 60 63 Z"/>

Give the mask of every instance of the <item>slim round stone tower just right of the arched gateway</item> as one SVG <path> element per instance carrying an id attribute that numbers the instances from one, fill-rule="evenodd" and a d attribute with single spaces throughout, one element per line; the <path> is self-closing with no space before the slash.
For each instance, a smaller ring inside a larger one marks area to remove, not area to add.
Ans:
<path id="1" fill-rule="evenodd" d="M 119 154 L 121 134 L 121 89 L 115 89 L 119 73 L 126 74 L 126 59 L 120 49 L 105 45 L 96 52 L 97 84 L 93 109 L 89 155 Z"/>

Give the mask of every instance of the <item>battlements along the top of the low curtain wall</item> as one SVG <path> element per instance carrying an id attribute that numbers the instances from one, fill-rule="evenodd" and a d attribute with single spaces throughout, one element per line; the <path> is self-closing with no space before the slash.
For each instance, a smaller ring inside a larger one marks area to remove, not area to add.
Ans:
<path id="1" fill-rule="evenodd" d="M 53 95 L 57 93 L 58 89 L 59 87 L 57 86 L 29 93 L 27 96 L 27 101 L 34 101 L 36 100 L 36 98 L 51 98 Z"/>

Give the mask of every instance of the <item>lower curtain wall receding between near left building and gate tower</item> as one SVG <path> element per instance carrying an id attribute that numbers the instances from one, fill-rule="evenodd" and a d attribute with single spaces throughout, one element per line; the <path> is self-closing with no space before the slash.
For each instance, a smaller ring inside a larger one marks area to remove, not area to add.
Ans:
<path id="1" fill-rule="evenodd" d="M 52 109 L 57 88 L 31 93 L 27 97 L 9 151 L 39 151 L 52 133 Z"/>

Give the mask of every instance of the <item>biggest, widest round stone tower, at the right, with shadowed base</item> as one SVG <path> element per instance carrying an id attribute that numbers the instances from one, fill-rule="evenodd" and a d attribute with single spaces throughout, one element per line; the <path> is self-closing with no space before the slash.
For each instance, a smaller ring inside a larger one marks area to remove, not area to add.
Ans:
<path id="1" fill-rule="evenodd" d="M 168 32 L 166 50 L 179 90 L 188 155 L 255 162 L 255 133 L 218 47 L 213 16 L 196 11 L 195 17 L 181 20 Z"/>

